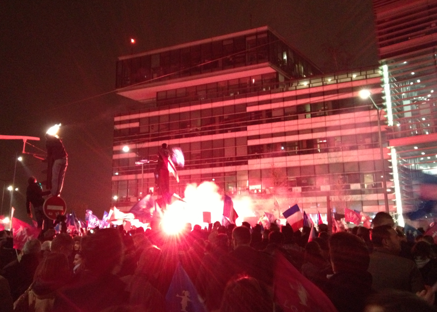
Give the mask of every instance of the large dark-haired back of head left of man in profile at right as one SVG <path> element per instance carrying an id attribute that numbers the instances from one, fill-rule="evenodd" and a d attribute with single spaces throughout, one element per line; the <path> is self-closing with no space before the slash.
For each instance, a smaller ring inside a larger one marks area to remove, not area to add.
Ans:
<path id="1" fill-rule="evenodd" d="M 329 238 L 331 265 L 334 273 L 367 271 L 370 263 L 366 244 L 355 235 L 338 232 Z"/>

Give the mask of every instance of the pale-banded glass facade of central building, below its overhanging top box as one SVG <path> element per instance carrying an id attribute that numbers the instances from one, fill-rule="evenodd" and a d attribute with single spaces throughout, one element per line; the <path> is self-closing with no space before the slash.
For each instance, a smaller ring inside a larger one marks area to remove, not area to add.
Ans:
<path id="1" fill-rule="evenodd" d="M 135 161 L 156 159 L 166 142 L 185 155 L 180 183 L 170 179 L 171 192 L 177 194 L 187 184 L 214 181 L 229 194 L 296 200 L 307 213 L 326 213 L 327 193 L 339 212 L 346 206 L 368 213 L 384 210 L 377 113 L 358 96 L 371 89 L 374 99 L 382 101 L 379 69 L 270 86 L 194 101 L 181 97 L 118 114 L 113 154 L 117 207 L 129 207 L 154 186 L 155 163 L 144 165 L 141 177 Z M 140 156 L 123 153 L 124 145 Z"/>

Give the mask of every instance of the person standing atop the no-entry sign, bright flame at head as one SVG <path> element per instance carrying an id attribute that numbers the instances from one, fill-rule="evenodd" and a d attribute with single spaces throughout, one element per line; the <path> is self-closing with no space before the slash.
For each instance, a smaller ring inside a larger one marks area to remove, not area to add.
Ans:
<path id="1" fill-rule="evenodd" d="M 64 184 L 65 171 L 67 171 L 67 152 L 57 132 L 61 124 L 54 125 L 45 134 L 47 139 L 47 189 L 52 196 L 59 196 Z"/>

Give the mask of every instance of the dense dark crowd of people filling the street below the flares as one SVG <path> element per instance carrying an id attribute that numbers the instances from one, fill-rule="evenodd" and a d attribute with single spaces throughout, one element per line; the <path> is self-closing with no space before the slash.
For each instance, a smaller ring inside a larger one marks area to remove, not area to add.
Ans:
<path id="1" fill-rule="evenodd" d="M 82 237 L 48 229 L 22 250 L 0 231 L 0 312 L 437 311 L 433 238 L 408 242 L 386 213 L 372 229 L 320 224 L 317 237 L 288 224 L 150 227 Z M 181 267 L 193 287 L 169 296 Z"/>

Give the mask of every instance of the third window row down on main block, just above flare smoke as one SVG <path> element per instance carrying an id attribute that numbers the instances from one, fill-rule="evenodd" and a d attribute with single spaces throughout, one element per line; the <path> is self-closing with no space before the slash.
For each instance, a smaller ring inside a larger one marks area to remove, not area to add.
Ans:
<path id="1" fill-rule="evenodd" d="M 170 190 L 183 194 L 187 184 L 213 181 L 220 189 L 234 194 L 243 191 L 272 193 L 272 190 L 278 193 L 302 192 L 305 196 L 321 196 L 320 192 L 326 190 L 333 195 L 376 194 L 382 192 L 382 177 L 378 170 L 378 161 L 365 161 L 181 175 L 179 184 L 170 179 Z M 119 198 L 141 196 L 141 183 L 144 184 L 144 193 L 155 186 L 153 178 L 113 181 L 113 194 Z"/>

